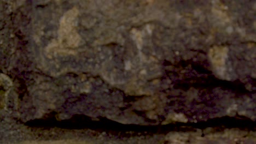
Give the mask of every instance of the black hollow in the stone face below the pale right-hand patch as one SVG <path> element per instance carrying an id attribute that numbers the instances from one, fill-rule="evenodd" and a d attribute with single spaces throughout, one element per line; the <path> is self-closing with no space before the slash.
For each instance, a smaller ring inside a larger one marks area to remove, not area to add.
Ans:
<path id="1" fill-rule="evenodd" d="M 184 91 L 188 91 L 191 87 L 197 89 L 213 89 L 220 87 L 223 90 L 234 92 L 237 95 L 252 93 L 246 89 L 245 83 L 240 80 L 225 81 L 217 79 L 217 77 L 212 74 L 212 71 L 207 69 L 209 66 L 207 62 L 204 63 L 206 65 L 193 62 L 192 60 L 181 61 L 178 64 L 164 61 L 162 65 L 165 70 L 165 75 L 162 76 L 162 79 L 170 79 L 174 89 L 182 89 Z M 191 68 L 188 67 L 189 65 Z M 168 69 L 167 67 L 169 66 L 173 68 Z M 182 70 L 185 70 L 186 73 L 182 74 Z"/>

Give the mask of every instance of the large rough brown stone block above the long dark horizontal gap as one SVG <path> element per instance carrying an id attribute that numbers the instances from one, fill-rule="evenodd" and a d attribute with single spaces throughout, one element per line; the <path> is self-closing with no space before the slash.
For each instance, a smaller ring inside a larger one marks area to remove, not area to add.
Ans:
<path id="1" fill-rule="evenodd" d="M 0 108 L 23 122 L 256 119 L 253 1 L 0 3 L 1 75 L 19 95 L 0 81 Z"/>

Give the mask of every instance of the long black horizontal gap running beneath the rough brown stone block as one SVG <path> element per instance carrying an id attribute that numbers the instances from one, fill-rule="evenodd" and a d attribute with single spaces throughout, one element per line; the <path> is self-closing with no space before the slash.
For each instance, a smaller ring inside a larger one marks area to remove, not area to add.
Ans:
<path id="1" fill-rule="evenodd" d="M 107 118 L 98 117 L 100 121 L 92 121 L 90 117 L 85 115 L 74 115 L 72 118 L 57 121 L 55 117 L 48 117 L 45 119 L 34 119 L 25 123 L 32 128 L 52 128 L 58 127 L 63 129 L 92 129 L 96 131 L 106 131 L 109 134 L 119 135 L 121 137 L 138 134 L 167 134 L 170 131 L 196 131 L 196 129 L 214 128 L 216 131 L 223 131 L 224 129 L 239 128 L 241 130 L 256 130 L 256 123 L 246 117 L 221 117 L 208 119 L 206 122 L 197 123 L 172 123 L 167 125 L 136 125 L 136 124 L 121 124 L 111 121 Z M 204 135 L 202 133 L 202 135 Z"/>

